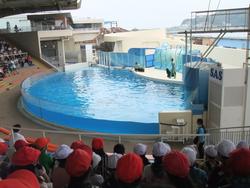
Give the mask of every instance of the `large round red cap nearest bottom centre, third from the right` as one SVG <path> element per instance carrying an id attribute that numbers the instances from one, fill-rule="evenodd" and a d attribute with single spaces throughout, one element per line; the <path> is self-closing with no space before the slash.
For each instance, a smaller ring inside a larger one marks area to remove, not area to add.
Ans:
<path id="1" fill-rule="evenodd" d="M 117 178 L 124 183 L 133 183 L 142 176 L 143 162 L 135 153 L 124 155 L 116 166 Z"/>

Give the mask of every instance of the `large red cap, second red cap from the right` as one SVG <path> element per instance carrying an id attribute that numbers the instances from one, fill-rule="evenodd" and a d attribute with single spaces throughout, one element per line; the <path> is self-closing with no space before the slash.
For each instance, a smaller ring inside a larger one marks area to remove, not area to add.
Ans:
<path id="1" fill-rule="evenodd" d="M 189 174 L 189 162 L 185 154 L 173 150 L 163 158 L 165 170 L 177 177 L 187 177 Z"/>

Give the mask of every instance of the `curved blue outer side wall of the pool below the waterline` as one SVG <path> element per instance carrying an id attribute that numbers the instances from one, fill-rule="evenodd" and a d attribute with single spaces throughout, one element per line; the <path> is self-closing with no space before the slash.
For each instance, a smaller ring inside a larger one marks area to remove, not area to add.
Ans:
<path id="1" fill-rule="evenodd" d="M 22 97 L 22 103 L 24 108 L 36 117 L 63 127 L 111 134 L 159 134 L 159 125 L 157 123 L 112 121 L 70 116 L 49 111 L 43 108 L 42 105 L 36 106 L 24 97 Z"/>

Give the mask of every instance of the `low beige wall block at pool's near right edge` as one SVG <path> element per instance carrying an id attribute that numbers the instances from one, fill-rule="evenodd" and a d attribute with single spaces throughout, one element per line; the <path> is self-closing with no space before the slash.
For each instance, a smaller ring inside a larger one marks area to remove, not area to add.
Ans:
<path id="1" fill-rule="evenodd" d="M 172 126 L 164 125 L 164 124 L 176 124 L 176 119 L 184 119 L 187 123 L 186 126 L 180 127 L 179 132 L 176 129 L 173 129 Z M 160 122 L 160 133 L 166 134 L 166 133 L 184 133 L 189 134 L 192 133 L 192 112 L 191 110 L 186 111 L 166 111 L 166 112 L 160 112 L 159 113 L 159 122 Z M 162 124 L 161 124 L 162 123 Z M 176 132 L 177 131 L 177 132 Z"/>

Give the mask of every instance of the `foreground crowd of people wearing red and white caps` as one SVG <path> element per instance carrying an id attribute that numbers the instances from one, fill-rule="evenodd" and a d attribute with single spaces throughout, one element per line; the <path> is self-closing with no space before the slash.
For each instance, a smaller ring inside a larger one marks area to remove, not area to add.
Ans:
<path id="1" fill-rule="evenodd" d="M 240 141 L 237 148 L 230 140 L 208 145 L 204 160 L 197 160 L 199 154 L 193 146 L 177 151 L 167 143 L 156 142 L 150 163 L 146 158 L 147 146 L 141 143 L 134 146 L 134 153 L 128 154 L 124 145 L 116 144 L 113 153 L 107 155 L 104 140 L 94 138 L 93 150 L 78 140 L 71 147 L 63 144 L 49 153 L 48 138 L 37 138 L 29 144 L 18 132 L 14 130 L 16 141 L 12 146 L 0 139 L 3 188 L 250 187 L 250 150 L 245 141 Z M 14 150 L 11 158 L 6 155 L 10 149 Z"/>

